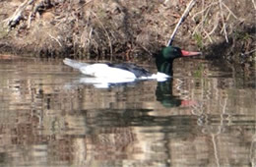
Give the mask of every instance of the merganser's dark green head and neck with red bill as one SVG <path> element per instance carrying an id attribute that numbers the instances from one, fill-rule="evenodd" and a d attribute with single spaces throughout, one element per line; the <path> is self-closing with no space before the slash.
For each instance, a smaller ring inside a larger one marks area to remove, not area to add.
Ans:
<path id="1" fill-rule="evenodd" d="M 189 52 L 181 50 L 178 47 L 167 46 L 161 49 L 160 54 L 156 57 L 158 72 L 172 76 L 172 62 L 179 57 L 189 57 L 202 54 L 201 52 Z"/>

